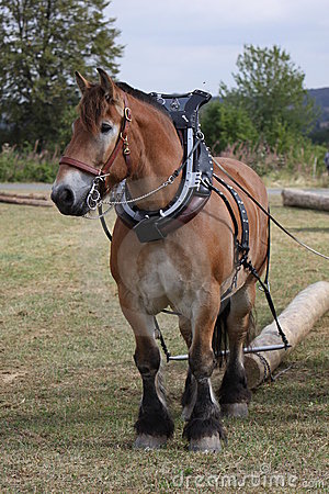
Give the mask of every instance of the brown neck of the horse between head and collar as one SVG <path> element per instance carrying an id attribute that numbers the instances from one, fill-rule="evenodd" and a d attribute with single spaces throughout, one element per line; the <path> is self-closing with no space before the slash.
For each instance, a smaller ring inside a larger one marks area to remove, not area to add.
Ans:
<path id="1" fill-rule="evenodd" d="M 180 166 L 183 149 L 172 122 L 161 111 L 135 100 L 132 114 L 131 148 L 133 151 L 133 147 L 137 147 L 138 158 L 134 153 L 136 162 L 127 186 L 132 198 L 138 198 L 168 180 Z M 146 210 L 164 207 L 175 195 L 179 183 L 180 178 L 149 198 L 138 201 L 137 206 Z"/>

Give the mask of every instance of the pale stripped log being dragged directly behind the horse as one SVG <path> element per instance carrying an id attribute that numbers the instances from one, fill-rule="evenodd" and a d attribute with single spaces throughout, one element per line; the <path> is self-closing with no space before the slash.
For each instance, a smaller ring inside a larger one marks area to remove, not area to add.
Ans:
<path id="1" fill-rule="evenodd" d="M 298 293 L 279 316 L 281 327 L 292 348 L 245 355 L 248 386 L 254 389 L 265 381 L 327 311 L 329 311 L 329 283 L 327 281 L 318 281 Z M 281 343 L 276 325 L 273 322 L 252 340 L 250 347 Z"/>

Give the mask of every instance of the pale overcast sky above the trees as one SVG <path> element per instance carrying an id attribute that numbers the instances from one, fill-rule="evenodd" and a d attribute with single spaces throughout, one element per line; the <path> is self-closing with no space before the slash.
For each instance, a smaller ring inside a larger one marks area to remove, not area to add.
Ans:
<path id="1" fill-rule="evenodd" d="M 306 74 L 307 88 L 329 87 L 329 0 L 112 0 L 120 79 L 144 91 L 218 93 L 243 44 L 280 45 Z"/>

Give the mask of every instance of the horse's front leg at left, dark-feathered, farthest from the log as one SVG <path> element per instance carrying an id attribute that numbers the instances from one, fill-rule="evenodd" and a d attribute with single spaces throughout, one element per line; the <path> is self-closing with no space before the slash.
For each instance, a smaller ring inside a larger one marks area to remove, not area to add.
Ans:
<path id="1" fill-rule="evenodd" d="M 157 449 L 172 436 L 173 422 L 168 413 L 160 377 L 160 352 L 155 339 L 154 317 L 122 307 L 136 339 L 135 363 L 143 380 L 143 396 L 135 424 L 135 448 Z"/>

